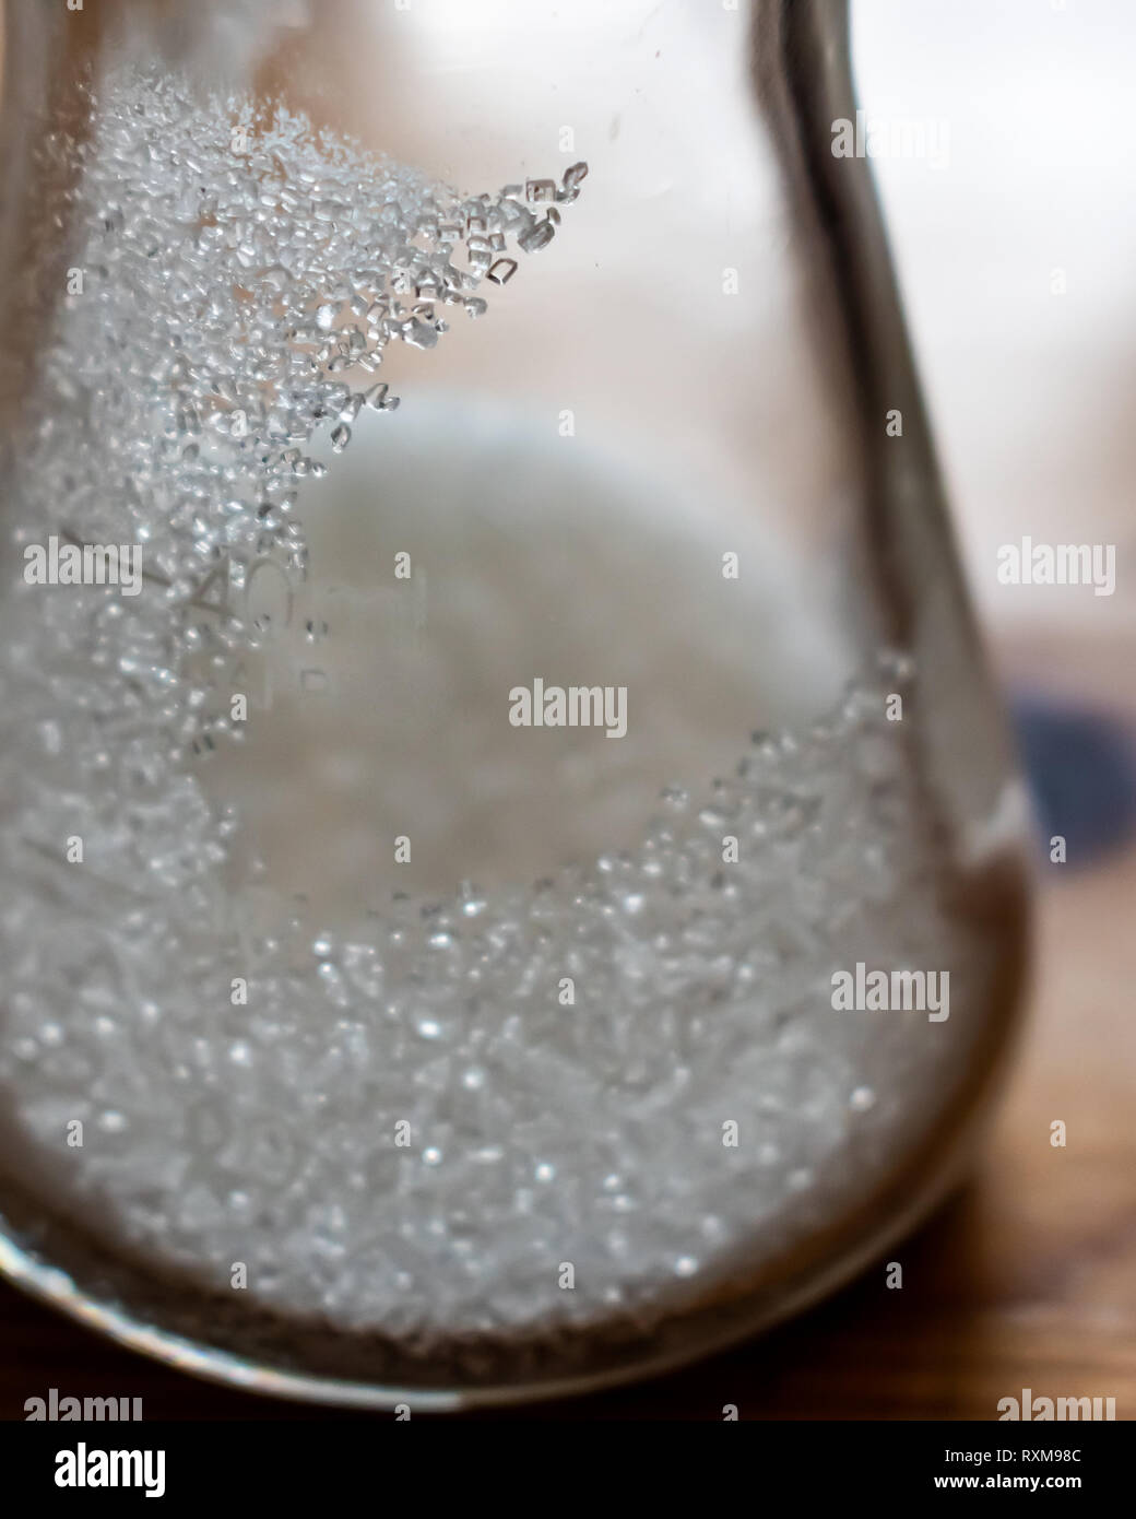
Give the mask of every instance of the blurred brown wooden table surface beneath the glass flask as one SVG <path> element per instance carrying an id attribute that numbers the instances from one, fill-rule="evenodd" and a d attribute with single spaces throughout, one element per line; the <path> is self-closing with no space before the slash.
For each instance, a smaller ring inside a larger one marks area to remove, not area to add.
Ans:
<path id="1" fill-rule="evenodd" d="M 1034 1012 L 969 1188 L 882 1270 L 764 1340 L 618 1393 L 481 1417 L 996 1419 L 999 1397 L 1136 1411 L 1136 851 L 1040 866 Z M 1068 1126 L 1065 1150 L 1049 1124 Z M 50 1387 L 146 1419 L 342 1417 L 194 1381 L 0 1288 L 0 1417 Z M 355 1416 L 357 1417 L 357 1416 Z M 380 1414 L 378 1417 L 390 1417 Z"/>

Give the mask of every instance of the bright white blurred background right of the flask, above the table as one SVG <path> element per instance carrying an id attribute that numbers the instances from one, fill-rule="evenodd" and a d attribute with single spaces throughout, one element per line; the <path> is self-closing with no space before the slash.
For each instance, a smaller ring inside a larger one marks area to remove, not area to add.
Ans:
<path id="1" fill-rule="evenodd" d="M 860 0 L 861 100 L 946 123 L 875 163 L 970 589 L 1007 677 L 1131 708 L 1136 11 Z M 999 545 L 1116 545 L 1116 591 L 1001 586 Z M 1127 700 L 1125 700 L 1127 697 Z"/>

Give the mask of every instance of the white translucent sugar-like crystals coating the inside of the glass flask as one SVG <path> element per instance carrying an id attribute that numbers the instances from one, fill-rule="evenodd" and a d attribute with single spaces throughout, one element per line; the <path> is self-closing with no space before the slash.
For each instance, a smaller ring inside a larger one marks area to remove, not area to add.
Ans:
<path id="1" fill-rule="evenodd" d="M 557 191 L 462 201 L 289 114 L 234 155 L 241 109 L 112 79 L 82 150 L 87 293 L 41 355 L 12 519 L 17 544 L 79 526 L 143 542 L 147 579 L 134 598 L 8 595 L 9 1118 L 96 1227 L 219 1288 L 246 1262 L 249 1297 L 284 1312 L 424 1355 L 448 1335 L 650 1322 L 870 1194 L 958 1075 L 986 949 L 937 899 L 879 682 L 816 732 L 740 737 L 717 787 L 676 776 L 626 852 L 390 899 L 366 936 L 279 910 L 197 767 L 248 744 L 231 671 L 252 687 L 310 570 L 295 483 L 327 466 L 308 444 L 345 448 L 360 396 L 393 410 L 360 363 L 399 337 L 434 346 L 427 293 L 483 310 L 478 273 L 516 267 L 501 238 L 553 235 L 515 197 Z M 248 586 L 246 621 L 211 609 L 219 568 Z M 524 647 L 488 588 L 468 595 L 486 638 Z M 334 641 L 330 623 L 308 618 L 308 643 Z M 313 659 L 313 702 L 330 679 Z M 374 756 L 374 787 L 389 781 Z M 296 832 L 317 848 L 299 784 Z M 741 843 L 726 867 L 724 834 Z M 260 919 L 234 911 L 234 873 Z M 949 968 L 951 1022 L 834 1013 L 831 972 L 860 960 Z"/>

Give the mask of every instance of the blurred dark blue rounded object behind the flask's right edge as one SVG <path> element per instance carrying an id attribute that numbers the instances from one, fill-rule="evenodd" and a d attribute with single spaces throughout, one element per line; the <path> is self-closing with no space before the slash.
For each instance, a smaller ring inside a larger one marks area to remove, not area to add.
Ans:
<path id="1" fill-rule="evenodd" d="M 1039 693 L 1010 699 L 1018 746 L 1048 854 L 1066 840 L 1071 866 L 1092 864 L 1136 832 L 1136 743 L 1116 720 Z"/>

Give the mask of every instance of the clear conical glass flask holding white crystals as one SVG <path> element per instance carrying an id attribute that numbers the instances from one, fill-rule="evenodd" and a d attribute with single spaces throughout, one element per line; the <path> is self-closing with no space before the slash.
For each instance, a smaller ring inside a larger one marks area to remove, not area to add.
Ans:
<path id="1" fill-rule="evenodd" d="M 5 1273 L 415 1408 L 831 1291 L 1025 946 L 843 5 L 3 17 Z"/>

